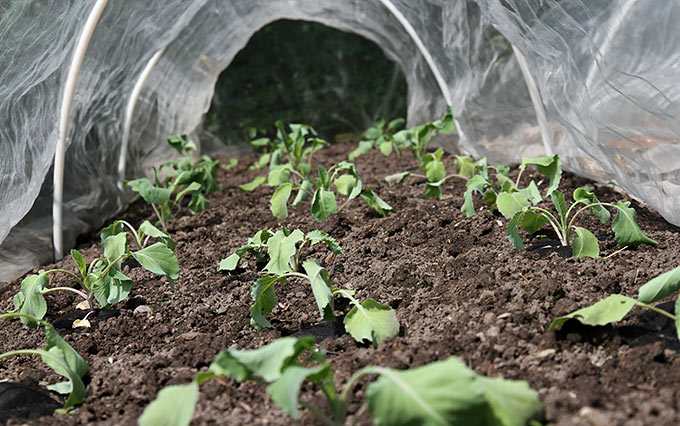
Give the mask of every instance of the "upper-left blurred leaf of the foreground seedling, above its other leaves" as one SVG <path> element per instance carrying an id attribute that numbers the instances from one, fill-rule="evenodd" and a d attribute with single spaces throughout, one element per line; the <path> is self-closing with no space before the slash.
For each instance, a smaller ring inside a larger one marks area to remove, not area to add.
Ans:
<path id="1" fill-rule="evenodd" d="M 282 337 L 259 349 L 224 349 L 210 364 L 209 371 L 239 382 L 259 376 L 272 383 L 281 378 L 286 368 L 295 365 L 302 352 L 313 348 L 313 337 Z"/>

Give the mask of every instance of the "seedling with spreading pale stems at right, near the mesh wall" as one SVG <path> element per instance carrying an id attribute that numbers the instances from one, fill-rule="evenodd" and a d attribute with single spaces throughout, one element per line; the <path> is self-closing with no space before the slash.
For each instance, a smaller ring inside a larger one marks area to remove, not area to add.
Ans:
<path id="1" fill-rule="evenodd" d="M 533 183 L 533 182 L 532 182 Z M 619 247 L 637 244 L 657 245 L 657 242 L 648 238 L 635 219 L 636 213 L 630 207 L 630 202 L 602 203 L 595 195 L 585 188 L 577 188 L 574 191 L 574 202 L 568 206 L 564 194 L 553 190 L 550 199 L 555 207 L 556 214 L 539 207 L 536 204 L 542 201 L 540 193 L 535 185 L 530 185 L 534 191 L 527 196 L 526 192 L 503 192 L 498 195 L 496 204 L 498 210 L 511 219 L 508 224 L 507 236 L 512 245 L 517 249 L 523 249 L 524 244 L 519 235 L 519 227 L 524 228 L 529 234 L 536 233 L 545 224 L 550 224 L 555 231 L 562 246 L 571 246 L 574 257 L 600 257 L 600 245 L 595 235 L 589 230 L 576 226 L 576 218 L 586 211 L 592 213 L 602 224 L 609 222 L 610 213 L 606 208 L 616 209 L 616 217 L 612 222 L 612 230 Z M 571 234 L 574 233 L 573 240 Z"/>

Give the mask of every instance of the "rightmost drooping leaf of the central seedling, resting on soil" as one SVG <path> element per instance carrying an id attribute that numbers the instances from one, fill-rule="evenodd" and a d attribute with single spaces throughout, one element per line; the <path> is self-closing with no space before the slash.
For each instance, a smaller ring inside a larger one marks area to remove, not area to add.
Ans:
<path id="1" fill-rule="evenodd" d="M 354 305 L 344 321 L 345 329 L 354 340 L 357 342 L 368 340 L 377 347 L 386 338 L 399 334 L 399 320 L 394 309 L 372 299 L 359 304 L 345 290 L 337 290 L 337 292 Z"/>

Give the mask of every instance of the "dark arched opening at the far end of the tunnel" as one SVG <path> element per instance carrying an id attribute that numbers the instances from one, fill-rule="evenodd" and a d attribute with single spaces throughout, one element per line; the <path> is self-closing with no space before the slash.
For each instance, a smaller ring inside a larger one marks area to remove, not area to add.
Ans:
<path id="1" fill-rule="evenodd" d="M 372 41 L 322 24 L 279 20 L 255 33 L 219 76 L 203 128 L 229 143 L 274 123 L 305 123 L 328 141 L 378 118 L 406 117 L 401 67 Z"/>

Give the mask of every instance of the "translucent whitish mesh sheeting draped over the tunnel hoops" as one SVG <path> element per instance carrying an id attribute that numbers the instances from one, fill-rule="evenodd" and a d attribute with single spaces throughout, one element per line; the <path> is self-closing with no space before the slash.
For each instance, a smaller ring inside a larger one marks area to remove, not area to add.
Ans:
<path id="1" fill-rule="evenodd" d="M 680 224 L 680 2 L 677 0 L 394 0 L 445 81 L 460 138 L 451 151 L 492 162 L 542 153 Z M 0 0 L 0 281 L 47 261 L 58 106 L 91 0 Z M 94 32 L 76 86 L 65 176 L 65 244 L 128 200 L 116 186 L 128 98 L 166 48 L 135 108 L 127 175 L 191 133 L 219 73 L 258 29 L 320 22 L 372 40 L 403 69 L 408 122 L 442 115 L 445 96 L 413 38 L 378 0 L 119 0 Z M 536 83 L 532 105 L 512 45 Z M 274 52 L 275 53 L 275 52 Z M 272 54 L 272 52 L 263 52 Z M 314 54 L 314 52 L 310 52 Z M 18 226 L 17 226 L 18 224 Z"/>

